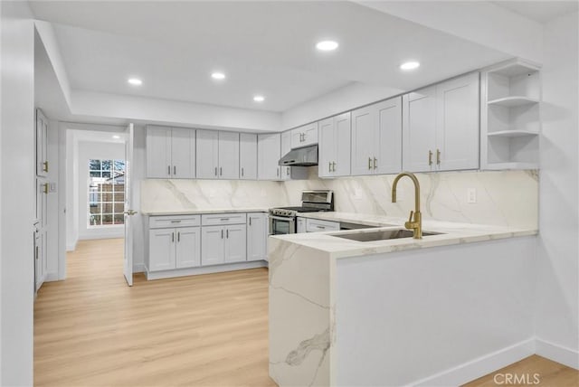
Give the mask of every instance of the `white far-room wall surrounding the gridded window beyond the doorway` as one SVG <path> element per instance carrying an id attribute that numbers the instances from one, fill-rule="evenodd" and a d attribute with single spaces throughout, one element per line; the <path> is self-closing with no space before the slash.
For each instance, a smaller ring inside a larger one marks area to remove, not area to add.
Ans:
<path id="1" fill-rule="evenodd" d="M 124 226 L 113 225 L 105 227 L 88 226 L 88 200 L 89 200 L 89 160 L 124 160 L 125 145 L 122 143 L 80 141 L 78 164 L 78 194 L 79 212 L 76 221 L 78 222 L 79 239 L 102 239 L 102 238 L 123 238 Z"/>

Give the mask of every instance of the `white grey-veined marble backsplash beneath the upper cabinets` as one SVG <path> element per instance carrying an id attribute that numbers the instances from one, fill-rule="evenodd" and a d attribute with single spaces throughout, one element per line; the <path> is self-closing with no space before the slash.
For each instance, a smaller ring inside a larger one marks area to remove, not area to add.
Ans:
<path id="1" fill-rule="evenodd" d="M 336 211 L 407 217 L 414 208 L 413 184 L 403 178 L 398 203 L 391 203 L 395 175 L 319 179 L 310 167 L 308 180 L 290 182 L 144 180 L 143 212 L 171 212 L 210 208 L 269 208 L 299 204 L 307 189 L 331 189 Z M 421 184 L 423 219 L 536 228 L 537 171 L 461 171 L 416 174 Z M 477 203 L 468 203 L 476 190 Z"/>

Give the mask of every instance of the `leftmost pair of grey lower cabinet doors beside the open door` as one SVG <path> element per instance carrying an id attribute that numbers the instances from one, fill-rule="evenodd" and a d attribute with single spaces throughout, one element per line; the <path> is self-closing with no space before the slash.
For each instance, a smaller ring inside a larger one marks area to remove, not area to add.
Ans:
<path id="1" fill-rule="evenodd" d="M 194 268 L 200 261 L 200 228 L 149 230 L 149 271 Z"/>

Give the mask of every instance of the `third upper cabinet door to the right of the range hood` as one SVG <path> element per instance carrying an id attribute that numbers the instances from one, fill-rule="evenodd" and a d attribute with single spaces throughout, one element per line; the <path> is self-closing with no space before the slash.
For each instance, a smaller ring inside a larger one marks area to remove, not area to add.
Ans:
<path id="1" fill-rule="evenodd" d="M 352 175 L 374 174 L 375 114 L 372 107 L 352 111 Z"/>

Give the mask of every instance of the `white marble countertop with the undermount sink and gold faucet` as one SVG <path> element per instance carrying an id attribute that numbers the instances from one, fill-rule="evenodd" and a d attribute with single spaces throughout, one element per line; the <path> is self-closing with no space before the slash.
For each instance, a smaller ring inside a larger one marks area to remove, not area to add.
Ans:
<path id="1" fill-rule="evenodd" d="M 385 241 L 352 241 L 338 238 L 334 235 L 404 228 L 403 224 L 407 219 L 348 212 L 308 212 L 300 213 L 299 216 L 324 221 L 352 222 L 377 227 L 354 231 L 309 232 L 271 236 L 271 238 L 280 239 L 281 241 L 327 252 L 330 258 L 333 259 L 359 257 L 392 251 L 425 249 L 461 243 L 493 241 L 518 236 L 536 235 L 537 233 L 536 229 L 515 229 L 486 224 L 438 222 L 422 219 L 422 231 L 441 232 L 441 234 L 424 236 L 422 240 L 401 238 Z"/>

